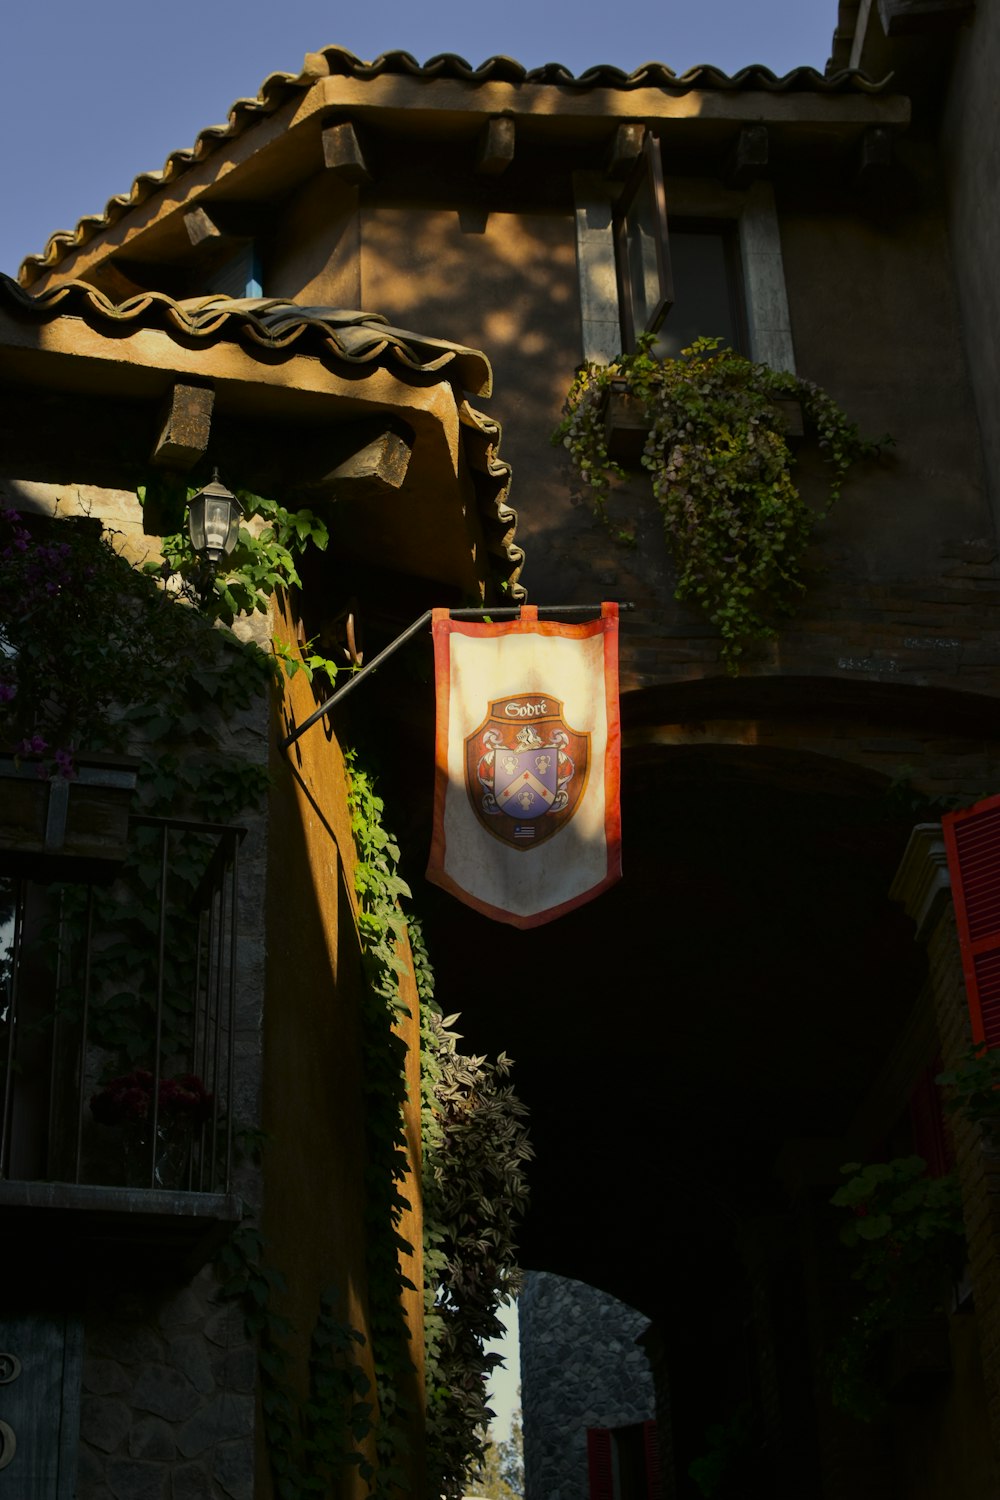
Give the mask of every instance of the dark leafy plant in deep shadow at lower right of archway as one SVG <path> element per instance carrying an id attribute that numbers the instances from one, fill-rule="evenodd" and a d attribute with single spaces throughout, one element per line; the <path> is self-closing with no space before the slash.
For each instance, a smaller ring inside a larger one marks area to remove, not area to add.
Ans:
<path id="1" fill-rule="evenodd" d="M 961 1263 L 964 1224 L 955 1178 L 928 1178 L 921 1156 L 841 1167 L 831 1198 L 850 1215 L 841 1227 L 859 1298 L 831 1362 L 834 1402 L 871 1420 L 885 1406 L 882 1364 L 889 1336 L 942 1306 Z"/>

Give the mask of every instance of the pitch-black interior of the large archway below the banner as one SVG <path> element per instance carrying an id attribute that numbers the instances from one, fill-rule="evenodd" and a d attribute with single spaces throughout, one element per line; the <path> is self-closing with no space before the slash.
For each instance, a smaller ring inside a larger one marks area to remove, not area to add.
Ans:
<path id="1" fill-rule="evenodd" d="M 528 1264 L 657 1317 L 721 1224 L 781 1210 L 790 1138 L 849 1138 L 924 976 L 888 790 L 802 752 L 646 748 L 598 902 L 520 933 L 424 888 L 439 998 L 532 1110 Z"/>

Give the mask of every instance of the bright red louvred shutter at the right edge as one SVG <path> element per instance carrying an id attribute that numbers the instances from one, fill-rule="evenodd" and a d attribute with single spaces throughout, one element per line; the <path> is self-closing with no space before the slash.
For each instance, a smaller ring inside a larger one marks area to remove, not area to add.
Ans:
<path id="1" fill-rule="evenodd" d="M 1000 1047 L 1000 796 L 942 819 L 973 1041 Z"/>

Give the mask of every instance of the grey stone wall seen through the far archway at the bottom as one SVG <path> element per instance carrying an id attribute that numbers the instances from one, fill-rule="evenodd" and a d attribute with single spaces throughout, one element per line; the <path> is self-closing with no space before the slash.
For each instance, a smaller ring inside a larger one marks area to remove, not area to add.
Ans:
<path id="1" fill-rule="evenodd" d="M 519 1299 L 526 1500 L 586 1500 L 586 1430 L 655 1414 L 637 1338 L 649 1318 L 606 1292 L 546 1270 Z"/>

